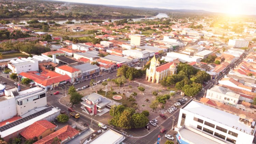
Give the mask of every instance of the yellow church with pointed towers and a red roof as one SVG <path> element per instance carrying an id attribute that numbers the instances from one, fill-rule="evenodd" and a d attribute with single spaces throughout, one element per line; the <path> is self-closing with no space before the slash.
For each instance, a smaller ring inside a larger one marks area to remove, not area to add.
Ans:
<path id="1" fill-rule="evenodd" d="M 174 62 L 168 62 L 160 66 L 160 62 L 154 56 L 151 59 L 150 68 L 146 70 L 146 80 L 159 83 L 164 77 L 176 74 L 177 66 Z"/>

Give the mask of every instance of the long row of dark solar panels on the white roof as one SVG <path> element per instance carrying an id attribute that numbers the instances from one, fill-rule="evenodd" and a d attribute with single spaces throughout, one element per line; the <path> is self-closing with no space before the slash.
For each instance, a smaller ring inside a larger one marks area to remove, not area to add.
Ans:
<path id="1" fill-rule="evenodd" d="M 35 118 L 35 117 L 37 117 L 37 116 L 39 116 L 39 115 L 42 115 L 42 114 L 44 114 L 44 113 L 47 113 L 47 112 L 51 111 L 53 108 L 54 108 L 53 106 L 47 107 L 46 109 L 44 109 L 44 110 L 42 110 L 42 111 L 39 111 L 39 112 L 34 113 L 34 114 L 32 114 L 32 115 L 29 115 L 29 116 L 27 116 L 27 117 L 18 119 L 18 120 L 14 121 L 14 122 L 12 122 L 12 123 L 10 123 L 10 124 L 8 124 L 8 125 L 4 125 L 4 126 L 0 127 L 0 132 L 5 131 L 5 130 L 8 130 L 8 129 L 14 127 L 14 126 L 19 125 L 19 124 L 22 124 L 22 123 L 24 123 L 24 122 L 26 122 L 26 121 L 28 121 L 28 120 L 30 120 L 30 119 L 32 119 L 32 118 Z"/>

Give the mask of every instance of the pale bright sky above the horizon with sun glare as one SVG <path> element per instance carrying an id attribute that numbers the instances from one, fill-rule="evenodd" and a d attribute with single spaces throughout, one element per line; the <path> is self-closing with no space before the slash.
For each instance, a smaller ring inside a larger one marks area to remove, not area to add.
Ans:
<path id="1" fill-rule="evenodd" d="M 144 8 L 205 10 L 231 15 L 256 15 L 256 0 L 57 0 Z"/>

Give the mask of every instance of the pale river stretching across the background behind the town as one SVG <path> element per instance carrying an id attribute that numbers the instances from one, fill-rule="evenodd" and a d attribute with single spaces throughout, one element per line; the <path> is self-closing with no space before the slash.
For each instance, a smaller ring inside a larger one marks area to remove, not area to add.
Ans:
<path id="1" fill-rule="evenodd" d="M 168 17 L 167 14 L 164 14 L 164 13 L 158 13 L 158 15 L 156 15 L 156 17 Z M 155 17 L 147 17 L 146 19 L 154 19 Z M 37 18 L 33 18 L 33 19 L 37 19 Z M 133 18 L 132 20 L 133 21 L 139 21 L 141 19 L 145 19 L 144 17 L 143 18 Z M 27 21 L 31 20 L 30 18 L 27 18 L 27 19 L 16 19 L 16 20 L 10 20 L 11 22 L 12 21 L 15 21 L 17 24 L 18 23 L 25 23 L 27 24 Z M 47 19 L 47 18 L 41 18 L 41 19 L 38 19 L 39 22 L 46 22 L 46 21 L 55 21 L 56 23 L 59 23 L 59 24 L 64 24 L 66 23 L 66 21 L 73 21 L 75 23 L 84 23 L 85 20 L 88 20 L 88 19 Z M 103 19 L 104 21 L 108 21 L 109 19 Z M 121 20 L 121 19 L 111 19 L 112 21 L 115 21 L 115 20 Z"/>

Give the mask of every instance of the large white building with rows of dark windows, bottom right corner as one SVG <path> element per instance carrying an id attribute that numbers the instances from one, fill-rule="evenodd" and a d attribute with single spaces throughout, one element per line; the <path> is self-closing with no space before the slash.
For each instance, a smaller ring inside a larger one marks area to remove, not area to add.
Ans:
<path id="1" fill-rule="evenodd" d="M 192 100 L 180 109 L 175 131 L 178 132 L 177 140 L 182 144 L 251 144 L 255 121 Z"/>

